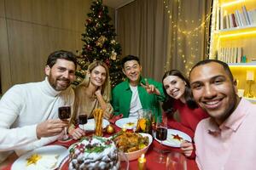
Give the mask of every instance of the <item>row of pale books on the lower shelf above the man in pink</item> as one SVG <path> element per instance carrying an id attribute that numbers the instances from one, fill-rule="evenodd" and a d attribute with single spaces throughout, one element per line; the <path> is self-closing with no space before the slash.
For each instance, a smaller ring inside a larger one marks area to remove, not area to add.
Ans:
<path id="1" fill-rule="evenodd" d="M 217 59 L 226 63 L 241 63 L 242 48 L 218 48 Z"/>

